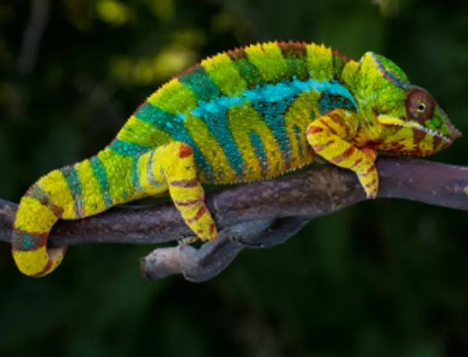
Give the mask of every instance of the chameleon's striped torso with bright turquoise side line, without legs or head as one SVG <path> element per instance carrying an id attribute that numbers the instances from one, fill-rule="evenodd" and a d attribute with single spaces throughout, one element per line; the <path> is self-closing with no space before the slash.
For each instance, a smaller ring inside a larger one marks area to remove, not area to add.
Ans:
<path id="1" fill-rule="evenodd" d="M 340 83 L 345 63 L 323 45 L 299 42 L 220 53 L 153 93 L 108 149 L 135 155 L 185 142 L 203 183 L 283 174 L 312 161 L 312 119 L 334 108 L 356 110 Z"/>

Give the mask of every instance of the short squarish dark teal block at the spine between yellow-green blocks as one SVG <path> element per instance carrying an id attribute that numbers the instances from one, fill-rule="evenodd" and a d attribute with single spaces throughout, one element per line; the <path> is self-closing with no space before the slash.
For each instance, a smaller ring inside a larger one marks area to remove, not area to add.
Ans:
<path id="1" fill-rule="evenodd" d="M 212 80 L 200 65 L 178 76 L 178 80 L 190 88 L 199 101 L 209 101 L 222 95 L 215 81 Z"/>

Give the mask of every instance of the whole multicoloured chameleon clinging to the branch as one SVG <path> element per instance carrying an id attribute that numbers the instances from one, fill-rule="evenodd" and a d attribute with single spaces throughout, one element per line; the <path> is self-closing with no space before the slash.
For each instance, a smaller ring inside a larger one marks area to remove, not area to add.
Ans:
<path id="1" fill-rule="evenodd" d="M 429 155 L 461 133 L 391 60 L 351 60 L 324 45 L 269 42 L 202 60 L 153 92 L 96 156 L 41 177 L 12 231 L 21 272 L 44 276 L 66 247 L 47 247 L 58 219 L 169 192 L 201 240 L 217 238 L 201 183 L 271 178 L 321 156 L 378 192 L 376 152 Z"/>

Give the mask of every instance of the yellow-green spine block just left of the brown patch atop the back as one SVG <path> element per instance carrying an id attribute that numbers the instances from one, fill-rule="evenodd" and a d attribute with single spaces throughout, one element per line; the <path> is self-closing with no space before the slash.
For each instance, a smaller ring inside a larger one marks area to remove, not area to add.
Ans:
<path id="1" fill-rule="evenodd" d="M 244 51 L 266 81 L 275 82 L 287 76 L 287 63 L 276 42 L 253 44 Z"/>

